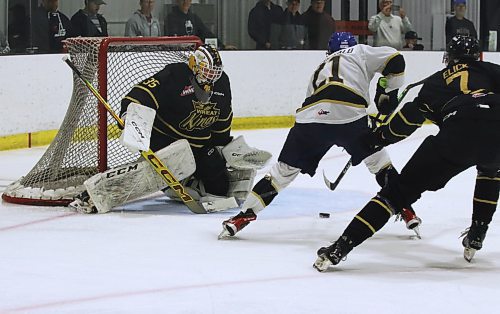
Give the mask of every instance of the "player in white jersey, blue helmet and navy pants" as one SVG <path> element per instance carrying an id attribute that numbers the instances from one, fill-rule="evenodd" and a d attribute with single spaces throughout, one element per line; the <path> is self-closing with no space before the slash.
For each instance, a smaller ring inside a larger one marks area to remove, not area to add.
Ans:
<path id="1" fill-rule="evenodd" d="M 299 174 L 313 176 L 319 161 L 333 146 L 341 146 L 352 157 L 352 164 L 364 160 L 380 186 L 397 177 L 389 155 L 363 139 L 369 127 L 366 108 L 370 103 L 369 85 L 376 73 L 383 75 L 386 88 L 378 83 L 375 103 L 382 114 L 398 104 L 398 88 L 404 83 L 405 61 L 390 47 L 358 45 L 350 33 L 334 33 L 329 55 L 314 71 L 306 99 L 297 110 L 278 162 L 252 189 L 241 212 L 222 223 L 219 238 L 234 236 L 257 218 L 279 191 Z M 414 215 L 414 214 L 413 214 Z"/>

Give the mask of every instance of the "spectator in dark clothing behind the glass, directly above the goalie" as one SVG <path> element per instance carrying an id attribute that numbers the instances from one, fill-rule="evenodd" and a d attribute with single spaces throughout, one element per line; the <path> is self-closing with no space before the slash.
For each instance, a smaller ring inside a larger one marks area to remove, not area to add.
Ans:
<path id="1" fill-rule="evenodd" d="M 165 35 L 186 36 L 195 35 L 205 41 L 207 38 L 216 38 L 217 45 L 224 49 L 236 49 L 232 45 L 224 45 L 217 36 L 212 33 L 203 23 L 200 17 L 191 12 L 192 0 L 176 0 L 172 12 L 167 15 L 165 21 Z"/>

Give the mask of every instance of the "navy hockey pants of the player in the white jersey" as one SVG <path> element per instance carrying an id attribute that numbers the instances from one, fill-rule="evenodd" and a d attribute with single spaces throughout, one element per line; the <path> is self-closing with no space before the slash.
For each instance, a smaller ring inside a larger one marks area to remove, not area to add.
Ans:
<path id="1" fill-rule="evenodd" d="M 295 123 L 278 160 L 312 177 L 323 156 L 337 145 L 345 148 L 355 166 L 377 151 L 362 140 L 367 132 L 372 132 L 367 117 L 347 124 Z"/>

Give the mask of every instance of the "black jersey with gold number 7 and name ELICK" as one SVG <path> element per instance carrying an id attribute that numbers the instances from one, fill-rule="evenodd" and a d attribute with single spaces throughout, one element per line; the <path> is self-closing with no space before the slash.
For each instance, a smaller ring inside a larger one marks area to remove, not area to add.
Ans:
<path id="1" fill-rule="evenodd" d="M 419 128 L 426 119 L 441 125 L 454 111 L 466 111 L 467 102 L 457 96 L 488 95 L 483 100 L 500 98 L 500 66 L 490 62 L 471 61 L 449 65 L 425 79 L 418 96 L 390 120 L 383 131 L 388 142 L 398 142 Z M 470 102 L 468 102 L 470 104 Z M 455 113 L 456 114 L 456 113 Z"/>

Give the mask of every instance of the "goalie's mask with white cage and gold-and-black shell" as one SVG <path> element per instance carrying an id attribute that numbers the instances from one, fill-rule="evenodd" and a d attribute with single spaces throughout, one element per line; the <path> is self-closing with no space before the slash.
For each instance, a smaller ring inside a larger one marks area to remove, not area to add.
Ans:
<path id="1" fill-rule="evenodd" d="M 213 84 L 222 75 L 222 59 L 217 49 L 211 45 L 199 46 L 188 61 L 196 81 L 206 91 L 211 92 Z"/>

